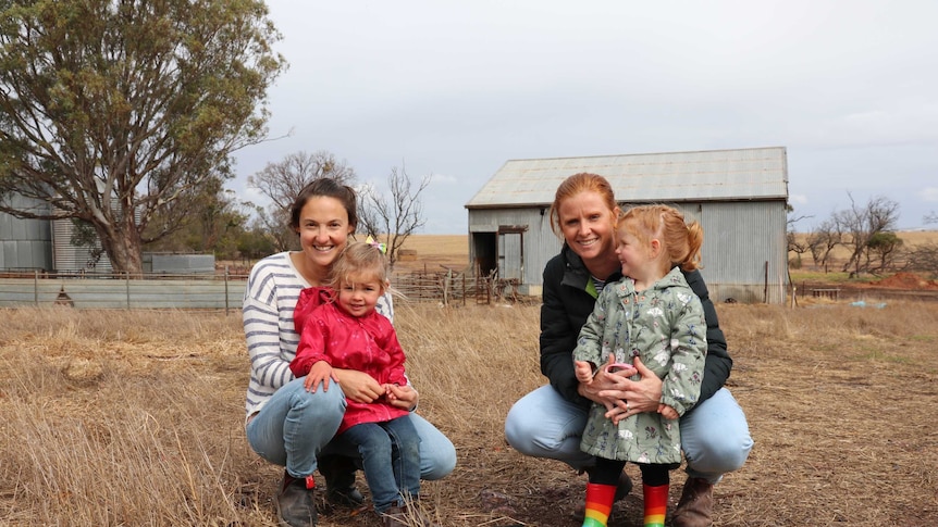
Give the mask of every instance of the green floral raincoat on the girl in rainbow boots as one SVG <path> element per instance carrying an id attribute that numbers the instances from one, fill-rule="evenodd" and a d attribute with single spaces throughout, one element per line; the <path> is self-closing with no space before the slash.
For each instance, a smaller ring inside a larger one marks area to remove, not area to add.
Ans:
<path id="1" fill-rule="evenodd" d="M 703 306 L 675 267 L 645 291 L 635 291 L 628 277 L 607 284 L 580 330 L 573 359 L 598 368 L 613 353 L 616 362 L 639 356 L 663 380 L 661 402 L 683 415 L 700 397 L 706 347 Z M 614 425 L 605 413 L 601 404 L 590 409 L 583 452 L 634 463 L 680 463 L 678 419 L 645 412 Z"/>

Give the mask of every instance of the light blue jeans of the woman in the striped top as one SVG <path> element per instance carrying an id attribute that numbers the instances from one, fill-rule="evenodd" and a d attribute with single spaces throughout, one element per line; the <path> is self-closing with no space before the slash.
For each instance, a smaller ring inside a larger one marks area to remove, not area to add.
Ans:
<path id="1" fill-rule="evenodd" d="M 333 441 L 346 406 L 340 386 L 332 384 L 329 391 L 320 387 L 310 393 L 303 382 L 300 377 L 282 386 L 248 423 L 250 448 L 298 478 L 316 472 L 316 459 L 321 453 L 360 460 L 355 446 L 343 443 L 341 438 Z M 420 477 L 441 479 L 453 472 L 456 467 L 453 442 L 416 413 L 410 413 L 410 421 L 420 436 Z"/>

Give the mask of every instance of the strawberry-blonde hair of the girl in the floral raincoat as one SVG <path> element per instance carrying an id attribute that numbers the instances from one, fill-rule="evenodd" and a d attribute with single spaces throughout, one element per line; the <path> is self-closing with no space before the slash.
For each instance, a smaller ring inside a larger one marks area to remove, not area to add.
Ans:
<path id="1" fill-rule="evenodd" d="M 672 206 L 633 206 L 622 213 L 616 228 L 629 231 L 645 247 L 657 239 L 667 258 L 665 272 L 675 265 L 683 271 L 701 268 L 703 227 L 696 221 L 688 224 L 683 214 Z"/>

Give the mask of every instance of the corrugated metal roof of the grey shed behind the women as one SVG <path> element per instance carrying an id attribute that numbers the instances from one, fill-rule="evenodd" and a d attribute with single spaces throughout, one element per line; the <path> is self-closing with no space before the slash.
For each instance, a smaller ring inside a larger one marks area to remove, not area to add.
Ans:
<path id="1" fill-rule="evenodd" d="M 579 172 L 609 180 L 619 201 L 788 199 L 785 147 L 507 161 L 467 209 L 550 205 Z"/>

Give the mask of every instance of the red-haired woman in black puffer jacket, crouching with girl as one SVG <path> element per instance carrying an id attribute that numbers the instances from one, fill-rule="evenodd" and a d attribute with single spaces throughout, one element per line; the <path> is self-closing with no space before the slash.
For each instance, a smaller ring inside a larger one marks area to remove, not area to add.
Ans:
<path id="1" fill-rule="evenodd" d="M 595 174 L 576 174 L 557 189 L 551 224 L 563 235 L 560 253 L 544 268 L 541 306 L 541 373 L 550 380 L 515 403 L 505 421 L 505 436 L 526 455 L 563 461 L 590 470 L 595 460 L 580 451 L 591 401 L 605 404 L 607 416 L 657 411 L 662 380 L 635 360 L 642 380 L 601 373 L 590 385 L 573 375 L 571 353 L 598 292 L 621 278 L 613 230 L 618 215 L 609 183 Z M 686 273 L 700 297 L 707 323 L 707 356 L 700 402 L 681 417 L 681 448 L 688 479 L 671 525 L 712 525 L 713 485 L 742 466 L 752 449 L 745 415 L 724 385 L 732 360 L 716 310 L 699 271 Z M 617 499 L 631 489 L 625 475 Z"/>

